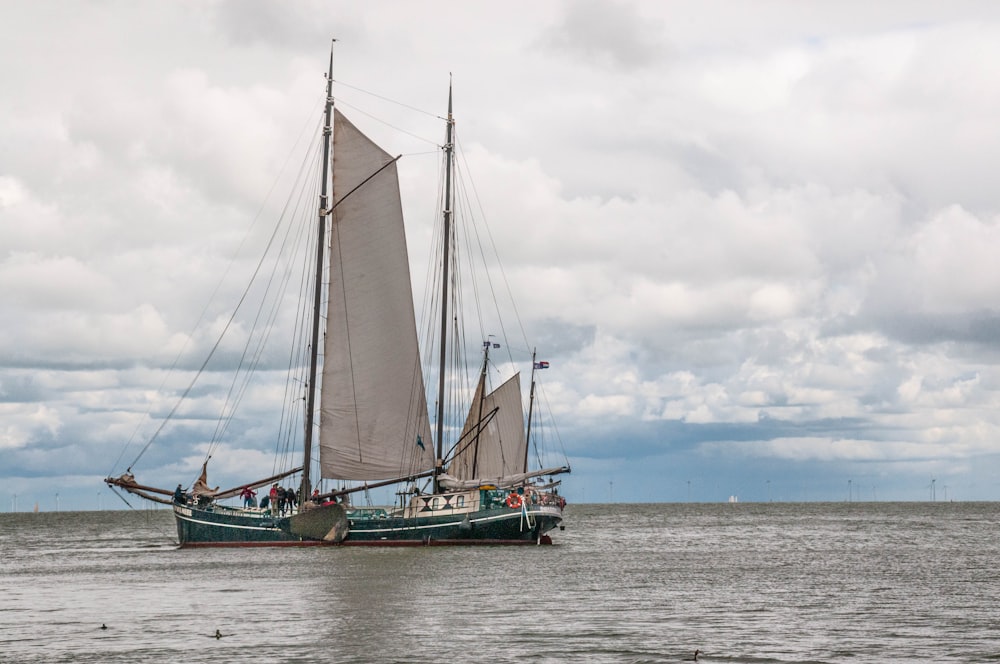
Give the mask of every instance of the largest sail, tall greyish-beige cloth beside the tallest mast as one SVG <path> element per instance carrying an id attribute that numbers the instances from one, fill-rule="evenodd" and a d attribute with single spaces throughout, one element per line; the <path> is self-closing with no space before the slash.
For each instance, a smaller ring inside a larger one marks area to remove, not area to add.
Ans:
<path id="1" fill-rule="evenodd" d="M 320 467 L 330 479 L 390 479 L 434 466 L 399 178 L 336 109 L 333 142 Z"/>

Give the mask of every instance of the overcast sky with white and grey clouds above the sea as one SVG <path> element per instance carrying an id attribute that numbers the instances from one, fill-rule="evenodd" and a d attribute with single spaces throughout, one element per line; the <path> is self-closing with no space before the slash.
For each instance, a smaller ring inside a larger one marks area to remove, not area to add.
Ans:
<path id="1" fill-rule="evenodd" d="M 1000 499 L 995 3 L 0 14 L 4 511 L 122 507 L 101 479 L 172 402 L 331 37 L 348 103 L 440 113 L 454 77 L 571 501 Z M 428 119 L 405 128 L 440 140 Z M 269 473 L 272 427 L 245 424 L 213 484 Z M 190 482 L 198 450 L 166 443 L 139 479 Z"/>

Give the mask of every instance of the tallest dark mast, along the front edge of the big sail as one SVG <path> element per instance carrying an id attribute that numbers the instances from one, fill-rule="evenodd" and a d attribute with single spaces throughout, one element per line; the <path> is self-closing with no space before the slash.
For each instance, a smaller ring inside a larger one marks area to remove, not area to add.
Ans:
<path id="1" fill-rule="evenodd" d="M 334 39 L 333 41 L 337 41 Z M 305 450 L 302 459 L 302 489 L 299 503 L 312 493 L 309 466 L 312 464 L 313 420 L 316 416 L 316 373 L 319 364 L 320 307 L 323 303 L 323 254 L 326 249 L 326 217 L 330 214 L 327 183 L 330 179 L 330 136 L 333 133 L 333 45 L 330 46 L 330 69 L 326 75 L 326 116 L 323 123 L 323 172 L 320 180 L 319 221 L 316 239 L 316 276 L 313 291 L 312 344 L 309 352 L 309 385 L 306 388 Z"/>

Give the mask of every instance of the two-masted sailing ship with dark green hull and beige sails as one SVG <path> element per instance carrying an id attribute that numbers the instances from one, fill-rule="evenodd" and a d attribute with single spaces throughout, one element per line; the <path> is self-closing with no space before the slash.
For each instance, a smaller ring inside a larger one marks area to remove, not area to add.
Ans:
<path id="1" fill-rule="evenodd" d="M 312 314 L 309 333 L 303 335 L 309 351 L 301 362 L 308 374 L 305 394 L 298 398 L 304 402 L 301 465 L 225 490 L 209 486 L 208 459 L 187 489 L 140 483 L 134 463 L 105 482 L 169 504 L 182 547 L 551 543 L 549 533 L 564 527 L 566 504 L 556 476 L 570 472 L 570 466 L 566 461 L 529 470 L 536 371 L 547 362 L 537 361 L 531 351 L 525 417 L 519 373 L 489 389 L 490 352 L 500 344 L 487 335 L 464 422 L 459 426 L 446 413 L 455 401 L 450 390 L 462 382 L 449 363 L 460 342 L 448 344 L 460 315 L 451 306 L 457 298 L 449 291 L 458 283 L 449 273 L 455 237 L 450 86 L 442 240 L 435 261 L 440 322 L 428 326 L 439 327 L 440 336 L 422 358 L 397 172 L 400 157 L 392 157 L 335 107 L 332 84 L 331 52 L 322 159 L 317 159 L 319 214 L 311 231 L 317 238 L 307 295 Z M 425 383 L 424 365 L 433 366 L 426 356 L 434 351 L 437 366 L 426 371 L 437 383 L 432 418 L 426 394 L 434 390 Z M 327 483 L 322 491 L 313 486 L 317 465 L 319 484 Z M 274 494 L 288 478 L 298 478 L 298 491 L 287 508 L 274 501 L 266 508 L 253 500 L 242 506 L 223 502 L 262 487 Z M 354 504 L 352 498 L 382 487 L 395 487 L 396 504 Z"/>

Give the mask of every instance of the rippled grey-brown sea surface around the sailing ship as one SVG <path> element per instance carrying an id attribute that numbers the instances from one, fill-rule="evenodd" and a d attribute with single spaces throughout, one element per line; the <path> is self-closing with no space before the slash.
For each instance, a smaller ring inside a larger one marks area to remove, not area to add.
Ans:
<path id="1" fill-rule="evenodd" d="M 165 511 L 2 514 L 0 662 L 1000 661 L 998 522 L 571 505 L 550 547 L 181 551 Z"/>

